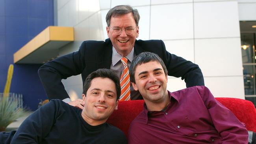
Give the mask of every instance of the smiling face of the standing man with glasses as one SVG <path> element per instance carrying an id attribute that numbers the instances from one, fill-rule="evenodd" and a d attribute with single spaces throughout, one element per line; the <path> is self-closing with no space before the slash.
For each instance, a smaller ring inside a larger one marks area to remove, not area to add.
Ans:
<path id="1" fill-rule="evenodd" d="M 115 28 L 121 28 L 122 33 L 116 35 L 113 31 Z M 125 33 L 126 28 L 134 28 L 134 32 L 131 35 L 127 35 Z M 111 17 L 110 27 L 107 26 L 107 33 L 115 50 L 125 57 L 132 51 L 135 40 L 139 36 L 139 26 L 136 27 L 133 14 L 127 13 Z"/>

